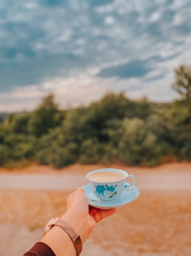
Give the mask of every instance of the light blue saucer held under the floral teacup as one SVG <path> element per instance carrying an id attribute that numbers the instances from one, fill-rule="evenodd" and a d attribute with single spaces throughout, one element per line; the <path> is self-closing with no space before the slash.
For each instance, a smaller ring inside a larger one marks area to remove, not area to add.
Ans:
<path id="1" fill-rule="evenodd" d="M 129 183 L 125 183 L 125 185 L 129 185 Z M 112 209 L 116 208 L 117 206 L 120 205 L 125 205 L 126 203 L 129 203 L 133 201 L 136 197 L 139 195 L 139 190 L 135 186 L 129 187 L 125 189 L 125 191 L 120 195 L 120 198 L 118 201 L 111 202 L 111 203 L 102 203 L 99 200 L 97 200 L 97 197 L 92 193 L 90 185 L 85 185 L 83 187 L 84 193 L 87 197 L 89 205 L 95 207 L 95 208 L 100 208 L 100 209 Z"/>

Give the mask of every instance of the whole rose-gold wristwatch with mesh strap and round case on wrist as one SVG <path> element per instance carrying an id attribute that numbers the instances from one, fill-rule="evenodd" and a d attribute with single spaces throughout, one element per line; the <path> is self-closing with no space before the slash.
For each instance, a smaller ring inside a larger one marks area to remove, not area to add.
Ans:
<path id="1" fill-rule="evenodd" d="M 65 221 L 57 218 L 52 218 L 51 220 L 49 220 L 49 222 L 47 223 L 47 225 L 45 226 L 44 229 L 44 234 L 46 234 L 53 226 L 59 226 L 61 227 L 71 238 L 74 247 L 76 249 L 76 256 L 79 256 L 79 254 L 82 251 L 82 241 L 79 235 L 76 234 L 76 232 L 73 230 L 73 228 L 66 223 Z"/>

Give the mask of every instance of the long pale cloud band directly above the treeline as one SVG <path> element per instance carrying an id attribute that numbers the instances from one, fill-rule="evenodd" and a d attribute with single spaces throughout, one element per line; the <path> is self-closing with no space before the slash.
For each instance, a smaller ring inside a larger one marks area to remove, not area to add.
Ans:
<path id="1" fill-rule="evenodd" d="M 163 73 L 160 73 L 162 68 Z M 133 99 L 147 96 L 152 101 L 169 102 L 177 97 L 170 88 L 172 72 L 165 72 L 165 67 L 160 67 L 160 70 L 151 71 L 143 77 L 122 79 L 94 76 L 97 70 L 87 70 L 67 78 L 56 77 L 44 83 L 0 93 L 0 112 L 31 111 L 39 104 L 42 97 L 50 92 L 55 94 L 61 109 L 88 106 L 110 91 L 116 93 L 123 91 L 126 96 Z"/>

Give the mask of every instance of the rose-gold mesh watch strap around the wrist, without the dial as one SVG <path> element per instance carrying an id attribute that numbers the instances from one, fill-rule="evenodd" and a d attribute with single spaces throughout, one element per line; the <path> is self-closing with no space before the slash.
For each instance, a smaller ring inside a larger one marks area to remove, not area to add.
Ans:
<path id="1" fill-rule="evenodd" d="M 74 247 L 76 249 L 76 255 L 79 256 L 79 254 L 82 251 L 82 241 L 81 241 L 80 236 L 77 235 L 76 232 L 73 230 L 73 228 L 65 221 L 58 219 L 58 218 L 56 218 L 55 221 L 56 222 L 52 223 L 52 224 L 63 228 L 63 230 L 70 236 L 70 238 L 74 244 Z"/>

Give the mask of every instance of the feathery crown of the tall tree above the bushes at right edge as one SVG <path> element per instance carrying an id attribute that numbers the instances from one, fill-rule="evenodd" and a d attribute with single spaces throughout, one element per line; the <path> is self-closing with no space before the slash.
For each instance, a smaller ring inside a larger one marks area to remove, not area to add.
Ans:
<path id="1" fill-rule="evenodd" d="M 175 69 L 175 82 L 172 88 L 180 94 L 182 99 L 191 100 L 191 68 L 181 64 Z"/>

